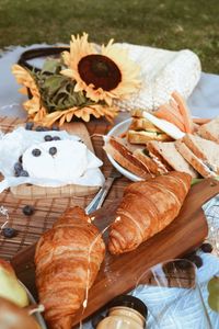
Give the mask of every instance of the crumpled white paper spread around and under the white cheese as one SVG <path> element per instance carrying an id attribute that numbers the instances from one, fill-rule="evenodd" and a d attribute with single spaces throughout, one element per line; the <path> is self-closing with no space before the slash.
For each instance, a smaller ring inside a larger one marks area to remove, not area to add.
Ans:
<path id="1" fill-rule="evenodd" d="M 71 140 L 77 141 L 80 140 L 80 137 L 70 135 L 67 132 L 34 132 L 26 131 L 23 127 L 19 127 L 12 133 L 8 133 L 5 135 L 0 134 L 0 172 L 3 174 L 4 179 L 0 182 L 0 193 L 11 186 L 16 186 L 24 183 L 31 183 L 39 186 L 62 186 L 66 184 L 78 184 L 85 186 L 101 186 L 104 182 L 104 177 L 99 169 L 103 164 L 103 162 L 96 158 L 88 148 L 85 150 L 85 171 L 82 177 L 73 177 L 70 178 L 67 175 L 66 178 L 57 178 L 55 179 L 46 179 L 43 177 L 34 178 L 34 177 L 14 177 L 14 163 L 18 162 L 19 157 L 24 154 L 24 151 L 33 145 L 39 145 L 44 141 L 44 136 L 58 136 L 61 140 Z M 50 141 L 47 141 L 50 143 Z M 57 141 L 58 144 L 59 141 Z M 83 144 L 81 147 L 85 147 Z M 77 155 L 74 155 L 77 157 Z M 71 157 L 72 158 L 72 157 Z M 60 160 L 60 159 L 59 159 Z M 64 159 L 65 161 L 65 159 Z M 65 163 L 66 164 L 66 163 Z M 65 167 L 64 164 L 64 167 Z M 57 172 L 61 170 L 61 162 L 57 164 Z M 60 168 L 59 168 L 60 167 Z"/>

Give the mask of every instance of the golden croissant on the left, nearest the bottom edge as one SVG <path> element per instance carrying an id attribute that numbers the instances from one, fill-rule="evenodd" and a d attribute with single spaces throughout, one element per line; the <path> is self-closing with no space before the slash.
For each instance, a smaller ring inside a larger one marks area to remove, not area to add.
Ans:
<path id="1" fill-rule="evenodd" d="M 39 239 L 36 286 L 51 329 L 70 329 L 104 259 L 97 228 L 80 207 L 69 208 Z"/>

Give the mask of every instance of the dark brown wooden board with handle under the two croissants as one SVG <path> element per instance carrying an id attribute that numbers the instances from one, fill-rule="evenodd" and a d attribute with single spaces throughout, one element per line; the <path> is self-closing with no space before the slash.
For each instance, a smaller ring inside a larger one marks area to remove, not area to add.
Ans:
<path id="1" fill-rule="evenodd" d="M 206 179 L 193 186 L 180 215 L 163 231 L 122 256 L 106 252 L 104 263 L 89 292 L 87 309 L 79 311 L 74 325 L 95 313 L 113 297 L 132 290 L 139 277 L 152 265 L 182 257 L 197 248 L 207 237 L 207 222 L 201 205 L 219 193 L 219 182 Z M 103 230 L 112 223 L 118 203 L 94 213 L 94 224 Z M 104 236 L 107 242 L 107 237 Z M 19 279 L 36 294 L 34 285 L 34 252 L 31 246 L 12 259 Z"/>

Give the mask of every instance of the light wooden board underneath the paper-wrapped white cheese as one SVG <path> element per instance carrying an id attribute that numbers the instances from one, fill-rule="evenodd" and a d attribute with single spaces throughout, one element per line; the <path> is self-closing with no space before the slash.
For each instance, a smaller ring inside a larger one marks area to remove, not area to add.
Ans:
<path id="1" fill-rule="evenodd" d="M 21 120 L 14 120 L 10 117 L 1 117 L 0 118 L 0 129 L 12 131 L 14 129 L 14 124 L 24 125 L 24 122 Z M 62 129 L 67 131 L 69 134 L 78 135 L 88 148 L 94 152 L 91 138 L 85 125 L 82 122 L 72 122 L 69 124 L 65 124 Z M 56 132 L 54 132 L 56 134 Z M 69 196 L 84 196 L 91 195 L 99 191 L 100 186 L 82 186 L 76 184 L 69 184 L 60 188 L 44 188 L 36 186 L 31 184 L 22 184 L 19 186 L 11 188 L 11 192 L 15 197 L 19 198 L 45 198 L 45 197 L 69 197 Z"/>

